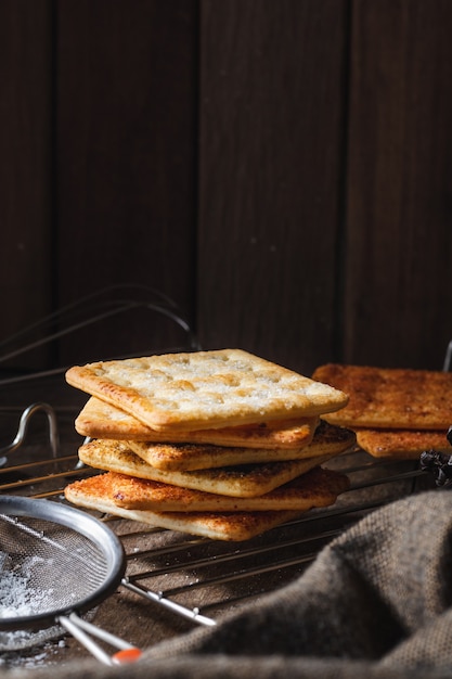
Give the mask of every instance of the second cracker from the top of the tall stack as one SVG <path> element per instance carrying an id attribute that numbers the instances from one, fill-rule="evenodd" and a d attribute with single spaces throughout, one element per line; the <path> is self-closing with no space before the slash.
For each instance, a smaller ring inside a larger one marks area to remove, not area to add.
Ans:
<path id="1" fill-rule="evenodd" d="M 81 436 L 90 438 L 297 450 L 311 443 L 318 422 L 317 417 L 297 418 L 215 430 L 170 430 L 163 433 L 92 396 L 76 418 L 75 428 Z"/>

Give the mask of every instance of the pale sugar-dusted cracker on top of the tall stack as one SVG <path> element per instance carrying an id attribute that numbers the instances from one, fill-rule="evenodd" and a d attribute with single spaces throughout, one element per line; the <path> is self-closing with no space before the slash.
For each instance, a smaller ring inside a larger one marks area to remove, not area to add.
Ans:
<path id="1" fill-rule="evenodd" d="M 99 361 L 70 368 L 66 380 L 162 432 L 312 417 L 348 401 L 334 387 L 242 349 Z"/>

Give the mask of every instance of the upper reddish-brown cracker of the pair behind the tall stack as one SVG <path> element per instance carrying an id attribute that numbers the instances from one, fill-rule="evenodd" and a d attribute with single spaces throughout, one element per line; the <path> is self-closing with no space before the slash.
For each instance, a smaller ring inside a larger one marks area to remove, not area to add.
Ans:
<path id="1" fill-rule="evenodd" d="M 313 379 L 349 397 L 340 411 L 324 415 L 332 424 L 397 430 L 444 430 L 452 424 L 450 372 L 327 363 Z"/>

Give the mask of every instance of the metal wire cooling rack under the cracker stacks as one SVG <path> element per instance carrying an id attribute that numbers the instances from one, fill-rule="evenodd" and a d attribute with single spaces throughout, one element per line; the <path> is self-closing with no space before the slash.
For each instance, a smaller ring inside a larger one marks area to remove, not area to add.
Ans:
<path id="1" fill-rule="evenodd" d="M 133 305 L 133 300 L 119 304 L 107 312 L 118 313 L 122 307 Z M 145 302 L 144 305 L 153 311 L 162 311 L 159 303 Z M 164 313 L 186 332 L 186 347 L 199 348 L 190 326 L 172 307 L 164 309 Z M 101 310 L 95 320 L 102 320 L 103 315 Z M 55 321 L 53 317 L 47 320 Z M 92 319 L 81 321 L 82 324 L 92 322 Z M 59 333 L 72 332 L 79 323 L 79 320 L 70 320 Z M 0 349 L 5 350 L 3 344 Z M 34 346 L 36 343 L 28 343 L 21 351 Z M 17 351 L 5 354 L 7 357 L 13 355 Z M 443 370 L 450 370 L 451 357 L 452 342 Z M 0 379 L 0 389 L 27 384 L 27 379 L 36 384 L 63 370 Z M 22 389 L 25 393 L 23 386 Z M 63 489 L 68 483 L 96 473 L 78 460 L 77 448 L 83 441 L 77 441 L 74 435 L 66 440 L 67 432 L 63 434 L 62 424 L 74 430 L 76 414 L 74 407 L 62 403 L 53 408 L 48 402 L 37 401 L 21 412 L 17 407 L 0 406 L 2 421 L 13 422 L 16 427 L 11 443 L 0 447 L 0 492 L 64 502 Z M 194 626 L 215 625 L 224 612 L 298 577 L 327 542 L 366 513 L 432 485 L 429 475 L 418 469 L 417 461 L 375 460 L 358 448 L 331 460 L 326 466 L 346 473 L 351 483 L 335 505 L 311 510 L 297 521 L 246 542 L 214 541 L 100 516 L 121 537 L 127 554 L 126 580 L 119 597 L 138 595 L 140 601 L 144 598 L 146 603 L 152 602 L 151 615 L 157 606 L 168 612 L 171 619 L 190 620 Z"/>

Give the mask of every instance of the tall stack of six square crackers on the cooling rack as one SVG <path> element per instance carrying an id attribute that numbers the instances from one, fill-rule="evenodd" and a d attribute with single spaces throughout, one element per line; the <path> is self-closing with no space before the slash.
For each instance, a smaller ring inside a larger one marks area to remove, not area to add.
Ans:
<path id="1" fill-rule="evenodd" d="M 75 366 L 66 380 L 90 395 L 79 458 L 105 472 L 66 487 L 75 504 L 245 540 L 348 488 L 320 464 L 354 434 L 318 426 L 346 395 L 241 349 Z"/>

